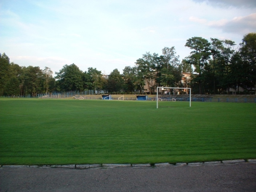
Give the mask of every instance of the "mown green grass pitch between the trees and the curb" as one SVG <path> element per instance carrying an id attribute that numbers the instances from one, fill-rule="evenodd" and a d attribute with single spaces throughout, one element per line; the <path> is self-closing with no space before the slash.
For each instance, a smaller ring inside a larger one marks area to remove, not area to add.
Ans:
<path id="1" fill-rule="evenodd" d="M 0 99 L 0 165 L 256 158 L 256 104 Z"/>

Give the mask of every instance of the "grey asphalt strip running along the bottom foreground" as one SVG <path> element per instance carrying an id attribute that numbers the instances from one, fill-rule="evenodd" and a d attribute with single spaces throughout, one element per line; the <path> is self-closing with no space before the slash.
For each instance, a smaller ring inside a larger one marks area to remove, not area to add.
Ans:
<path id="1" fill-rule="evenodd" d="M 0 168 L 0 192 L 256 192 L 256 163 L 111 169 Z"/>

